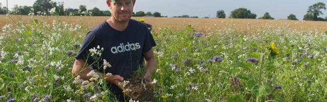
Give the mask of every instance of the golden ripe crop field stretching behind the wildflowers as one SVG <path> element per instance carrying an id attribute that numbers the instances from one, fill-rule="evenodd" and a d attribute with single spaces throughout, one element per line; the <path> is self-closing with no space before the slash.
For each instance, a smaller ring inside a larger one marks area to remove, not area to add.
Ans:
<path id="1" fill-rule="evenodd" d="M 108 19 L 108 16 L 21 16 L 10 15 L 12 19 L 22 21 L 31 21 L 33 19 L 45 20 L 62 20 L 75 24 L 87 24 L 88 27 L 94 28 L 96 25 Z M 0 26 L 13 23 L 6 15 L 0 15 Z M 153 30 L 168 27 L 172 31 L 184 29 L 187 25 L 193 25 L 196 31 L 208 33 L 215 32 L 222 28 L 235 28 L 239 31 L 249 32 L 258 29 L 278 29 L 282 27 L 295 31 L 327 31 L 327 22 L 325 21 L 300 21 L 300 20 L 266 20 L 266 19 L 229 19 L 229 18 L 166 18 L 166 17 L 132 17 L 132 19 L 145 19 L 146 23 L 153 25 Z"/>

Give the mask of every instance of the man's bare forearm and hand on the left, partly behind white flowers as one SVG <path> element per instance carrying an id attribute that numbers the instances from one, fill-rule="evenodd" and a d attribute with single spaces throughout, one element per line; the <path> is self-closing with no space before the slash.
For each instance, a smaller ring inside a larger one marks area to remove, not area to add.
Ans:
<path id="1" fill-rule="evenodd" d="M 84 66 L 85 65 L 85 66 Z M 90 80 L 91 77 L 87 77 L 87 73 L 89 73 L 92 69 L 86 68 L 89 66 L 83 59 L 76 59 L 74 62 L 74 66 L 72 69 L 73 77 L 76 75 L 80 75 L 81 79 L 83 80 Z M 122 86 L 118 85 L 119 82 L 124 81 L 124 78 L 121 77 L 120 75 L 111 75 L 107 76 L 105 73 L 99 72 L 103 78 L 106 78 L 107 83 L 114 84 L 118 86 L 120 89 L 123 89 Z"/>

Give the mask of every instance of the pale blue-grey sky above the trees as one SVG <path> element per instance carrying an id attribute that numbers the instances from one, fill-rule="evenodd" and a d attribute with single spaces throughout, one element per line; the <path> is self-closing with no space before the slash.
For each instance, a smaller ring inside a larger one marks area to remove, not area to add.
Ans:
<path id="1" fill-rule="evenodd" d="M 8 0 L 8 7 L 11 10 L 14 5 L 32 6 L 36 0 Z M 54 2 L 63 2 L 64 8 L 79 8 L 80 5 L 86 5 L 87 9 L 94 7 L 100 10 L 109 10 L 105 0 L 53 0 Z M 275 19 L 287 19 L 290 14 L 296 15 L 298 19 L 303 19 L 309 6 L 318 2 L 327 3 L 326 0 L 136 0 L 134 12 L 160 12 L 161 15 L 181 16 L 190 15 L 198 17 L 216 17 L 218 10 L 224 10 L 226 16 L 238 8 L 246 8 L 255 13 L 257 18 L 268 12 Z M 0 0 L 3 6 L 6 6 L 6 0 Z M 325 18 L 327 11 L 322 10 Z"/>

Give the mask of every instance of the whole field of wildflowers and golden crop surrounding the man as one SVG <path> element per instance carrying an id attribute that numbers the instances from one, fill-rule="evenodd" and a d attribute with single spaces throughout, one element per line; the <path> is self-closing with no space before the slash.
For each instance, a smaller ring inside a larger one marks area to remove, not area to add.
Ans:
<path id="1" fill-rule="evenodd" d="M 95 92 L 103 78 L 71 73 L 85 34 L 108 17 L 0 17 L 0 101 L 116 101 Z M 327 101 L 325 22 L 133 18 L 157 43 L 151 101 Z"/>

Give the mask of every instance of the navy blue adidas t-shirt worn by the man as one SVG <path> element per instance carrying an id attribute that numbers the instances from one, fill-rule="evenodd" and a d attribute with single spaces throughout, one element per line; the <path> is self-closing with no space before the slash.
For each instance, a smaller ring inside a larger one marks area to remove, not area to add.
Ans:
<path id="1" fill-rule="evenodd" d="M 111 64 L 104 73 L 121 75 L 126 80 L 131 78 L 133 71 L 143 66 L 143 53 L 148 52 L 156 43 L 142 22 L 130 19 L 125 31 L 117 31 L 104 21 L 86 34 L 76 59 L 83 59 L 88 64 L 94 63 L 94 59 L 88 56 L 89 49 L 97 48 L 98 45 L 104 48 L 101 58 Z M 99 64 L 102 67 L 92 65 L 92 68 L 103 72 L 103 60 Z M 108 87 L 114 94 L 122 93 L 115 85 L 108 84 Z"/>

